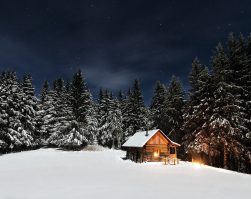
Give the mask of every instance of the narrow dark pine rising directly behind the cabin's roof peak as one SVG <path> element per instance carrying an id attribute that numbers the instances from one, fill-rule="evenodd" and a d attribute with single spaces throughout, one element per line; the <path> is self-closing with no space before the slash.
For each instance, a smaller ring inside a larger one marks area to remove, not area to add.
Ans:
<path id="1" fill-rule="evenodd" d="M 164 108 L 164 102 L 166 99 L 167 91 L 164 84 L 162 84 L 160 81 L 156 82 L 154 95 L 152 98 L 152 102 L 150 105 L 150 114 L 151 118 L 153 120 L 153 126 L 152 128 L 159 128 L 162 129 L 165 132 L 165 124 L 166 121 L 163 118 L 163 108 Z"/>

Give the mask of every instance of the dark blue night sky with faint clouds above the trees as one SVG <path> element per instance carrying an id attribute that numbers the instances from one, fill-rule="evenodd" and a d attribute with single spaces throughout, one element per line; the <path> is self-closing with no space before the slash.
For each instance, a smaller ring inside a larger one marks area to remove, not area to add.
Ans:
<path id="1" fill-rule="evenodd" d="M 229 32 L 251 32 L 250 0 L 0 0 L 0 70 L 39 90 L 82 69 L 94 96 L 139 78 L 149 104 L 156 80 L 187 89 L 193 58 L 208 64 Z"/>

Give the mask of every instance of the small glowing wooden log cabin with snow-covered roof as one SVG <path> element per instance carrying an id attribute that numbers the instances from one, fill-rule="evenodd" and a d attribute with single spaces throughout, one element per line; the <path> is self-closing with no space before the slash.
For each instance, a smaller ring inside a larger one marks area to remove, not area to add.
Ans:
<path id="1" fill-rule="evenodd" d="M 170 140 L 161 130 L 136 132 L 123 145 L 126 157 L 135 162 L 170 162 L 177 163 L 178 143 Z"/>

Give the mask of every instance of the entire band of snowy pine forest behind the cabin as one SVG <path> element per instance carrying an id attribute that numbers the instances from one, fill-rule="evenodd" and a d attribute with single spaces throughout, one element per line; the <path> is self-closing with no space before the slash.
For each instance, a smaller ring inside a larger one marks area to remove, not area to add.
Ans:
<path id="1" fill-rule="evenodd" d="M 81 71 L 71 81 L 45 81 L 39 97 L 32 77 L 0 76 L 0 153 L 40 147 L 120 148 L 138 130 L 159 128 L 181 143 L 184 160 L 251 173 L 251 36 L 229 35 L 205 66 L 195 58 L 188 97 L 179 78 L 157 82 L 150 107 L 140 82 L 126 93 L 100 89 L 93 100 Z M 185 100 L 187 99 L 187 100 Z"/>

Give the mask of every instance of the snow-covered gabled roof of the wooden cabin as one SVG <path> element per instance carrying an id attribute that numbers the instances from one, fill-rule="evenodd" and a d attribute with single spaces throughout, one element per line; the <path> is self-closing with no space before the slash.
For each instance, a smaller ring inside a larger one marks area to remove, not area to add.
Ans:
<path id="1" fill-rule="evenodd" d="M 148 136 L 146 136 L 146 131 L 136 132 L 122 145 L 122 147 L 143 147 L 158 131 L 160 131 L 173 145 L 180 146 L 178 143 L 170 140 L 160 129 L 154 129 L 148 131 Z"/>

